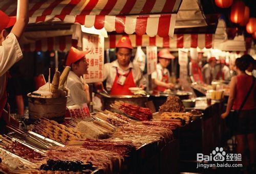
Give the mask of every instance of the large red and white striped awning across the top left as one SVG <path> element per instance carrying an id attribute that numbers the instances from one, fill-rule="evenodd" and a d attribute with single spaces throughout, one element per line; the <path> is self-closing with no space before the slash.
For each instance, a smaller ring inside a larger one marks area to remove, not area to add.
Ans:
<path id="1" fill-rule="evenodd" d="M 173 36 L 181 0 L 32 0 L 29 23 L 64 21 L 108 32 Z M 3 0 L 0 10 L 16 14 L 16 1 Z"/>

